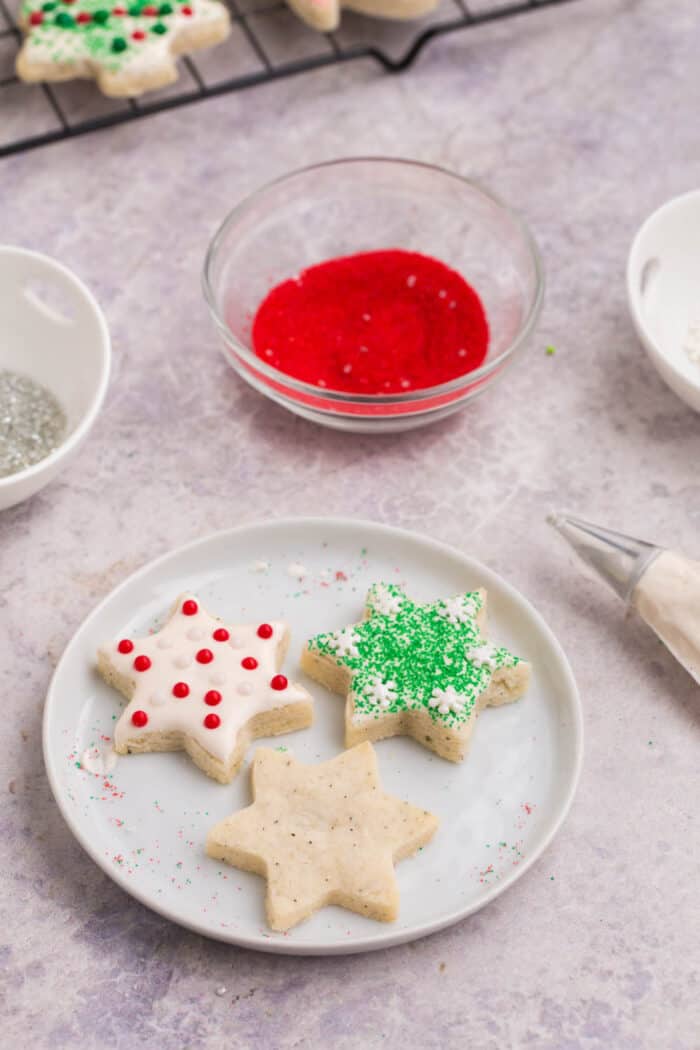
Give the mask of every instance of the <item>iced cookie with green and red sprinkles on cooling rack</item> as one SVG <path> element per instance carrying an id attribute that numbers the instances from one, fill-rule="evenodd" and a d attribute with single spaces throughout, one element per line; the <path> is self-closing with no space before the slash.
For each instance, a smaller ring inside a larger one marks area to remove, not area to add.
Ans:
<path id="1" fill-rule="evenodd" d="M 94 77 L 119 97 L 172 83 L 177 56 L 225 40 L 230 18 L 217 0 L 24 0 L 20 24 L 21 80 Z"/>

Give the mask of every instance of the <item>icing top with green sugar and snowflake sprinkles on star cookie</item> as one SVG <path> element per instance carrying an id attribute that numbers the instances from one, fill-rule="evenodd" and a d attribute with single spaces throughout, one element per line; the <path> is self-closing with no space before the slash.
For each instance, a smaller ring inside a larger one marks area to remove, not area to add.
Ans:
<path id="1" fill-rule="evenodd" d="M 318 634 L 309 648 L 352 672 L 357 714 L 423 708 L 433 721 L 459 726 L 494 670 L 521 663 L 485 642 L 476 623 L 482 604 L 471 591 L 421 605 L 394 584 L 375 584 L 364 623 Z"/>

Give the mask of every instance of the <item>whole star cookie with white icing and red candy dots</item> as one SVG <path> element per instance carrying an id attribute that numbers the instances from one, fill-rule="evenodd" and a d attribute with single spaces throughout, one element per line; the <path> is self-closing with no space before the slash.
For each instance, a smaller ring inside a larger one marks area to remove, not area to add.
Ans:
<path id="1" fill-rule="evenodd" d="M 186 751 L 228 783 L 252 739 L 312 723 L 309 693 L 279 673 L 289 638 L 287 624 L 222 624 L 182 594 L 157 633 L 98 651 L 98 670 L 129 701 L 114 750 Z"/>

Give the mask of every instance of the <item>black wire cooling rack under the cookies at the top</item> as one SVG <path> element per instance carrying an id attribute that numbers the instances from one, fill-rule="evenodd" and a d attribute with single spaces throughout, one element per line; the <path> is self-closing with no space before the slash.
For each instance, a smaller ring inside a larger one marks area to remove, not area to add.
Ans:
<path id="1" fill-rule="evenodd" d="M 0 156 L 340 62 L 372 59 L 387 72 L 400 72 L 443 34 L 570 0 L 441 0 L 413 22 L 345 12 L 331 34 L 307 28 L 283 0 L 227 0 L 229 39 L 181 59 L 177 82 L 141 100 L 106 99 L 91 81 L 22 84 L 15 75 L 22 35 L 8 2 L 0 0 Z"/>

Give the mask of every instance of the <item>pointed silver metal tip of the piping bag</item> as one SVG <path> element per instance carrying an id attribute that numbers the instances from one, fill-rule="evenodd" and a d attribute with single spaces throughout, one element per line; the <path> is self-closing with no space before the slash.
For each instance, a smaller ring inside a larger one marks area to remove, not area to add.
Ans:
<path id="1" fill-rule="evenodd" d="M 623 602 L 630 601 L 640 578 L 663 550 L 645 540 L 636 540 L 563 511 L 548 514 L 547 521 Z"/>

